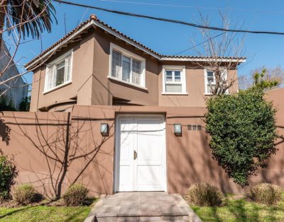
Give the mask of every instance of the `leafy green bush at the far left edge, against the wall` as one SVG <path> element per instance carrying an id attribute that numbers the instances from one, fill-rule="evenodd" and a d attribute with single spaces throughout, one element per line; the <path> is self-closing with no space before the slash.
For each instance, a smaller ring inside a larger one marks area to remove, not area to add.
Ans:
<path id="1" fill-rule="evenodd" d="M 5 156 L 0 150 L 0 201 L 11 198 L 11 186 L 15 184 L 17 175 L 13 158 Z"/>

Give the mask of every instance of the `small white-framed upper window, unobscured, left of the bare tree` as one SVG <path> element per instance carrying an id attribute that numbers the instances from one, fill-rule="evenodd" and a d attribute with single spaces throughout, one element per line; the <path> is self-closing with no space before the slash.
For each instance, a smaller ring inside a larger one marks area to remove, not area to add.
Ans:
<path id="1" fill-rule="evenodd" d="M 185 93 L 185 66 L 163 66 L 163 94 Z"/>

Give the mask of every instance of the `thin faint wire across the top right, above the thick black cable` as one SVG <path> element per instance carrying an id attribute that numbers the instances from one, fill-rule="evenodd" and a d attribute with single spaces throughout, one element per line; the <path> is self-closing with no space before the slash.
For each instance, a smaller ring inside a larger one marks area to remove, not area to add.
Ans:
<path id="1" fill-rule="evenodd" d="M 204 6 L 185 6 L 185 5 L 174 5 L 174 4 L 157 4 L 141 1 L 117 1 L 117 0 L 99 0 L 99 1 L 108 1 L 115 3 L 124 3 L 124 4 L 140 4 L 146 6 L 166 6 L 166 7 L 177 7 L 177 8 L 201 8 L 208 10 L 220 10 L 220 11 L 244 11 L 244 12 L 256 12 L 256 13 L 278 13 L 284 14 L 284 11 L 262 11 L 262 10 L 251 10 L 251 9 L 240 9 L 240 8 L 217 8 L 217 7 L 204 7 Z"/>

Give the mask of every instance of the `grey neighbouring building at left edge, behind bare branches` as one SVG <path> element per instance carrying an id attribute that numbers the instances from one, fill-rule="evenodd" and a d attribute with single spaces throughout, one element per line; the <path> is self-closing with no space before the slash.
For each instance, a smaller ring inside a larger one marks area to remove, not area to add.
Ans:
<path id="1" fill-rule="evenodd" d="M 28 96 L 28 84 L 23 81 L 5 44 L 2 44 L 0 52 L 0 70 L 4 71 L 4 74 L 0 76 L 0 83 L 5 81 L 5 83 L 0 84 L 0 91 L 5 92 L 9 99 L 12 100 L 13 105 L 18 109 L 18 105 L 23 101 L 23 98 Z M 11 80 L 9 80 L 10 78 Z"/>

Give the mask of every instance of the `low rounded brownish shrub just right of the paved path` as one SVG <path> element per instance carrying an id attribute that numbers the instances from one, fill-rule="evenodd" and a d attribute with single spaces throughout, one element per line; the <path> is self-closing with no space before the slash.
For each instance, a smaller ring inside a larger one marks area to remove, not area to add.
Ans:
<path id="1" fill-rule="evenodd" d="M 217 187 L 205 182 L 191 185 L 187 194 L 189 201 L 197 206 L 219 206 L 224 197 Z"/>

